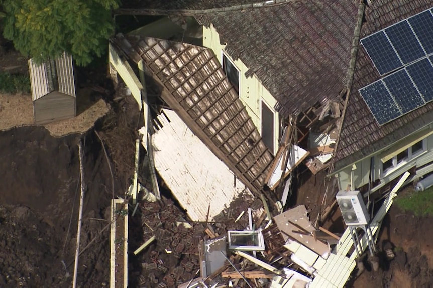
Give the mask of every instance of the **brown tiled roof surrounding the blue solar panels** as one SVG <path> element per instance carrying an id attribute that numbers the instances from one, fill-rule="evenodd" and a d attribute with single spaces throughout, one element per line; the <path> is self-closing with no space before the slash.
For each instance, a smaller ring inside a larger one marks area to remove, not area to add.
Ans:
<path id="1" fill-rule="evenodd" d="M 433 6 L 430 0 L 376 0 L 365 10 L 361 38 Z M 383 126 L 379 126 L 358 89 L 380 78 L 379 73 L 360 46 L 349 101 L 343 120 L 334 171 L 367 157 L 433 120 L 433 103 L 429 103 Z"/>

